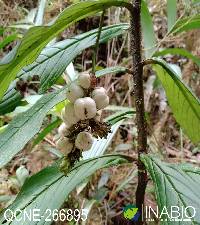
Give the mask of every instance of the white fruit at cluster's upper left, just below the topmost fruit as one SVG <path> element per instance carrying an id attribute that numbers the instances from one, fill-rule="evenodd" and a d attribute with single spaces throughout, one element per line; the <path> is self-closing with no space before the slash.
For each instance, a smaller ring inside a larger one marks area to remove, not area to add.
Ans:
<path id="1" fill-rule="evenodd" d="M 72 83 L 67 90 L 66 96 L 70 102 L 74 103 L 76 99 L 84 96 L 84 91 L 79 85 Z"/>

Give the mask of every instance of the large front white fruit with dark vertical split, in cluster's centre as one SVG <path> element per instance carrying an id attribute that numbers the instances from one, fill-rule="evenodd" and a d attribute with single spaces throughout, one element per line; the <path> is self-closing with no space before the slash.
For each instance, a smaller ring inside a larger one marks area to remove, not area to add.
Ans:
<path id="1" fill-rule="evenodd" d="M 96 116 L 95 101 L 90 97 L 79 98 L 74 103 L 75 115 L 81 120 L 91 119 Z"/>

